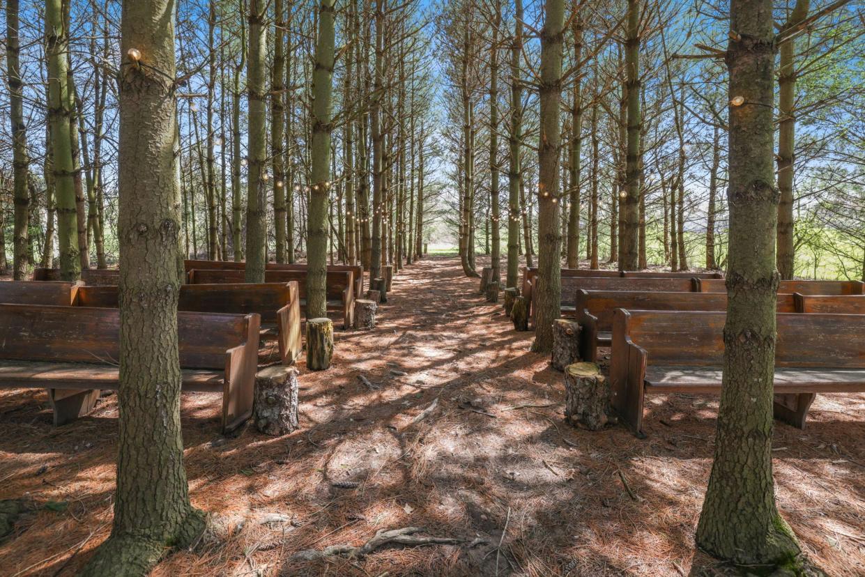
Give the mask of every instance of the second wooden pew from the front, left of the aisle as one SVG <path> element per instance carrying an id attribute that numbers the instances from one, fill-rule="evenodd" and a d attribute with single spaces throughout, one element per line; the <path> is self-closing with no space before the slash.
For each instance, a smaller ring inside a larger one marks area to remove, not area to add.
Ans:
<path id="1" fill-rule="evenodd" d="M 74 305 L 91 308 L 117 308 L 117 286 L 80 286 Z M 300 298 L 298 283 L 261 285 L 181 285 L 177 310 L 187 312 L 224 312 L 258 314 L 261 337 L 275 337 L 279 358 L 284 365 L 296 362 L 303 351 L 300 338 Z"/>

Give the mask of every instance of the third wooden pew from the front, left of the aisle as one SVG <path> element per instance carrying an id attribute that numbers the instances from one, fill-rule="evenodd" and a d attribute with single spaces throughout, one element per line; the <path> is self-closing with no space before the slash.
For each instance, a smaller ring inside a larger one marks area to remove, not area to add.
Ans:
<path id="1" fill-rule="evenodd" d="M 242 283 L 244 272 L 242 270 L 191 270 L 189 271 L 190 285 L 215 285 L 215 284 L 237 284 Z M 300 295 L 300 307 L 306 308 L 306 271 L 266 271 L 265 282 L 287 283 L 291 281 L 298 283 Z M 355 314 L 355 291 L 354 277 L 351 272 L 327 272 L 327 310 L 338 312 L 343 317 L 343 328 L 349 330 Z"/>

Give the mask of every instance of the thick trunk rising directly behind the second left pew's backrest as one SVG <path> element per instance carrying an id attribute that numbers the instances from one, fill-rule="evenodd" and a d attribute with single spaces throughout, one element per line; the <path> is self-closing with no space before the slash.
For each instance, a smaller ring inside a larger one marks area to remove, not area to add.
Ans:
<path id="1" fill-rule="evenodd" d="M 266 10 L 265 0 L 249 0 L 247 283 L 263 283 L 267 264 Z"/>

